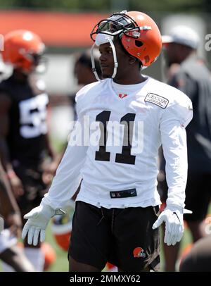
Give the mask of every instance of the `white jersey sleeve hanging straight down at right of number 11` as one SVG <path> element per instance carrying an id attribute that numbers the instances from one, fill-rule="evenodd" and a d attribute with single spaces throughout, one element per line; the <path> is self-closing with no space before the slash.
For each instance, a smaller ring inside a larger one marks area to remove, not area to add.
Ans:
<path id="1" fill-rule="evenodd" d="M 188 160 L 185 127 L 193 117 L 190 99 L 176 102 L 162 113 L 160 136 L 168 185 L 167 205 L 184 208 Z"/>

